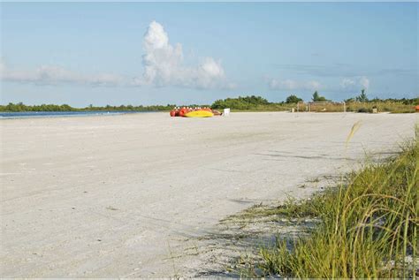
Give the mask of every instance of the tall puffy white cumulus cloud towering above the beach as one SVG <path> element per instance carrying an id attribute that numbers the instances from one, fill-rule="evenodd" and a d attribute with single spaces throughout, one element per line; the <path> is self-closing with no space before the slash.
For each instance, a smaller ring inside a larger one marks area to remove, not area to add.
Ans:
<path id="1" fill-rule="evenodd" d="M 212 57 L 205 57 L 197 66 L 183 64 L 182 46 L 171 45 L 164 26 L 156 21 L 149 24 L 144 35 L 142 57 L 144 73 L 135 79 L 137 85 L 155 85 L 157 87 L 232 87 L 225 79 L 221 62 Z"/>

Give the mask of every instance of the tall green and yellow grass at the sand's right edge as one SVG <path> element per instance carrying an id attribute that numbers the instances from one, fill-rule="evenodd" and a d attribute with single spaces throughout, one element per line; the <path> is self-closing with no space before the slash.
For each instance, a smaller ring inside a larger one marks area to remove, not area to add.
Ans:
<path id="1" fill-rule="evenodd" d="M 261 209 L 257 216 L 315 218 L 309 235 L 264 247 L 247 276 L 415 278 L 419 275 L 419 130 L 400 155 L 367 163 L 346 185 Z"/>

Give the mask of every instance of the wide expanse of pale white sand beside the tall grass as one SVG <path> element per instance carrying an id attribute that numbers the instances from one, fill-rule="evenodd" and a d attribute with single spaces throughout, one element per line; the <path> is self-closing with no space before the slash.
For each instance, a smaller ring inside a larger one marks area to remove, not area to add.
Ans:
<path id="1" fill-rule="evenodd" d="M 194 276 L 183 240 L 260 201 L 307 196 L 316 189 L 299 185 L 350 170 L 366 151 L 390 155 L 417 116 L 0 120 L 1 276 Z"/>

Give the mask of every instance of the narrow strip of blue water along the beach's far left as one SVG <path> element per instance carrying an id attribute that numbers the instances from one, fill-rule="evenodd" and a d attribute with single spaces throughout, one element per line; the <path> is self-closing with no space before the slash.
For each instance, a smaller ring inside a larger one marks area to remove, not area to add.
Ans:
<path id="1" fill-rule="evenodd" d="M 0 112 L 2 118 L 27 118 L 27 117 L 82 117 L 82 116 L 111 116 L 139 113 L 136 111 L 67 111 L 67 112 Z"/>

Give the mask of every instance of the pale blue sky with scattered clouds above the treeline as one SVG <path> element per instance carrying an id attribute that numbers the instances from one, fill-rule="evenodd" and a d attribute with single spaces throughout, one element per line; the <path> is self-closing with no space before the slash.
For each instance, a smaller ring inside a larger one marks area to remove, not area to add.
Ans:
<path id="1" fill-rule="evenodd" d="M 419 3 L 1 3 L 0 102 L 419 96 Z"/>

